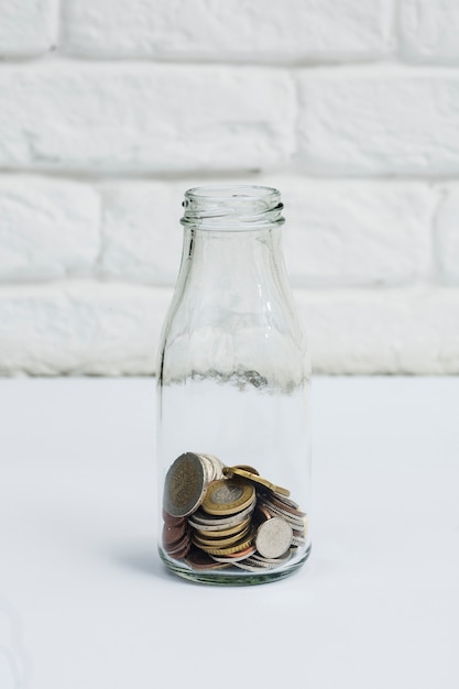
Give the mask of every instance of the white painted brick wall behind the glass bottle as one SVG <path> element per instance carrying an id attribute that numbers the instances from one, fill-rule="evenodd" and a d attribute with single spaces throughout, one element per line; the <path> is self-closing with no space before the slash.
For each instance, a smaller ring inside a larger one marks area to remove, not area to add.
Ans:
<path id="1" fill-rule="evenodd" d="M 0 375 L 145 374 L 183 193 L 281 189 L 314 369 L 459 373 L 456 0 L 0 0 Z"/>

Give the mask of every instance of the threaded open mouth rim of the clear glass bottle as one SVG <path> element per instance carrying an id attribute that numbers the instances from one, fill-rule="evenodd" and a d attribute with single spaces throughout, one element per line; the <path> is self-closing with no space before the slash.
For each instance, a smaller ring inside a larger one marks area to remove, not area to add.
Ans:
<path id="1" fill-rule="evenodd" d="M 212 185 L 185 192 L 185 227 L 203 230 L 244 231 L 283 225 L 284 205 L 273 187 Z"/>

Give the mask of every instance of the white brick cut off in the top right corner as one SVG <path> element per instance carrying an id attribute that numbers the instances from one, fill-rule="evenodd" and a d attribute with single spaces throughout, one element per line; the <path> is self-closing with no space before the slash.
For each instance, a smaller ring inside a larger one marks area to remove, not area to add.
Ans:
<path id="1" fill-rule="evenodd" d="M 414 62 L 459 61 L 459 4 L 456 0 L 401 0 L 401 54 Z"/>

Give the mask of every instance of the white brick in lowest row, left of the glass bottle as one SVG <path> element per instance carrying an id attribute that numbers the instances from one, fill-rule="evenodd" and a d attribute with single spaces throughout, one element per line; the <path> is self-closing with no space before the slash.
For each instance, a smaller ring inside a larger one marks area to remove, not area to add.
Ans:
<path id="1" fill-rule="evenodd" d="M 2 287 L 0 374 L 151 374 L 170 298 L 85 281 Z"/>

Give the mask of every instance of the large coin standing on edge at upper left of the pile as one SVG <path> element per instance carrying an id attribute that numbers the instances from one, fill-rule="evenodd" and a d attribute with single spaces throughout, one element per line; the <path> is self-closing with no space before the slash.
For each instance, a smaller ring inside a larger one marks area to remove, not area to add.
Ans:
<path id="1" fill-rule="evenodd" d="M 170 467 L 164 484 L 164 510 L 187 516 L 200 505 L 207 488 L 207 471 L 198 455 L 185 452 Z"/>

